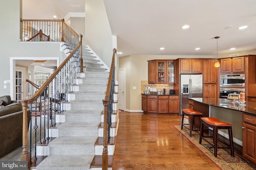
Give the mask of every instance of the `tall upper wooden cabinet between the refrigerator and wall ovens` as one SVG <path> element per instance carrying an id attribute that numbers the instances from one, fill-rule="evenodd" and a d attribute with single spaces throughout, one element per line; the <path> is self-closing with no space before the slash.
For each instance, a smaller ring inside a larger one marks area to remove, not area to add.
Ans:
<path id="1" fill-rule="evenodd" d="M 218 81 L 218 68 L 214 67 L 217 60 L 203 60 L 203 83 L 216 84 Z"/>

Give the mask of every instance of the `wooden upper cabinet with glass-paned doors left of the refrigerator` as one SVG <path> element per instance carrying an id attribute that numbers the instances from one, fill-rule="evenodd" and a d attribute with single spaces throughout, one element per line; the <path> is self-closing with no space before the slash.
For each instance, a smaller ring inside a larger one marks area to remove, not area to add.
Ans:
<path id="1" fill-rule="evenodd" d="M 175 83 L 174 60 L 148 61 L 148 83 Z"/>

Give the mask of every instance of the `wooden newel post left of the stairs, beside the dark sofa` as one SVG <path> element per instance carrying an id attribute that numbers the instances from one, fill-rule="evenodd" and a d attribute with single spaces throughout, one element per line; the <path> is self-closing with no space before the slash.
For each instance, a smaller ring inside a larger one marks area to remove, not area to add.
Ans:
<path id="1" fill-rule="evenodd" d="M 22 155 L 20 155 L 21 161 L 28 161 L 30 167 L 30 152 L 28 151 L 28 118 L 27 118 L 27 106 L 28 101 L 22 100 L 23 121 L 22 121 Z"/>

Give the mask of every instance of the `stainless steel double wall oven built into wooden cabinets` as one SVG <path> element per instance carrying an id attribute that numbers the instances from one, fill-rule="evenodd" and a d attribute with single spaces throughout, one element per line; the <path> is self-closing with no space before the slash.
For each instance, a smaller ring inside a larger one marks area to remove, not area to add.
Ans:
<path id="1" fill-rule="evenodd" d="M 245 92 L 244 74 L 220 75 L 220 98 L 228 98 L 228 94 Z"/>

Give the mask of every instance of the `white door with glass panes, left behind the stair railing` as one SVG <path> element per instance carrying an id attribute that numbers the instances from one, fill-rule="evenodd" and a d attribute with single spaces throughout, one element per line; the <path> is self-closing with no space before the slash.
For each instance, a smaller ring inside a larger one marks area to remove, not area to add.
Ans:
<path id="1" fill-rule="evenodd" d="M 15 70 L 15 99 L 20 102 L 24 99 L 24 72 L 25 68 L 16 67 Z"/>

